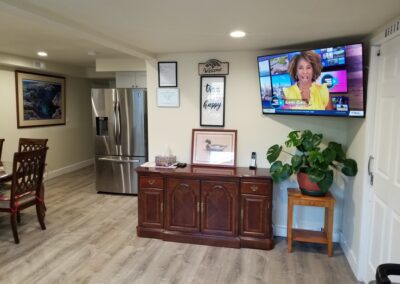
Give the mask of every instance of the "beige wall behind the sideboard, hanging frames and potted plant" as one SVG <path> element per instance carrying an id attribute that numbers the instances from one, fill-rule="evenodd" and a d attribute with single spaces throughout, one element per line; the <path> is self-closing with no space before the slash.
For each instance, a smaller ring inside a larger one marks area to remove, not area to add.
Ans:
<path id="1" fill-rule="evenodd" d="M 263 54 L 266 54 L 263 53 Z M 171 148 L 179 161 L 190 163 L 191 133 L 200 128 L 200 62 L 216 58 L 229 62 L 226 76 L 225 129 L 238 131 L 237 164 L 248 167 L 250 154 L 257 152 L 259 167 L 269 167 L 265 159 L 267 148 L 283 143 L 291 130 L 310 129 L 324 134 L 329 140 L 347 142 L 346 118 L 310 116 L 273 116 L 261 114 L 257 52 L 180 53 L 159 58 L 160 61 L 178 62 L 179 108 L 160 108 L 156 105 L 158 86 L 157 62 L 147 62 L 149 109 L 149 156 L 164 154 Z M 285 182 L 274 188 L 274 224 L 277 235 L 286 235 L 286 188 L 296 183 Z M 337 197 L 335 210 L 335 239 L 339 239 L 342 222 L 343 189 L 334 187 Z M 295 211 L 294 224 L 319 230 L 322 225 L 321 208 L 302 208 Z"/>

